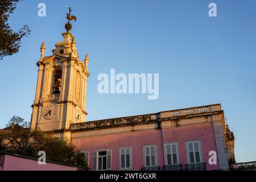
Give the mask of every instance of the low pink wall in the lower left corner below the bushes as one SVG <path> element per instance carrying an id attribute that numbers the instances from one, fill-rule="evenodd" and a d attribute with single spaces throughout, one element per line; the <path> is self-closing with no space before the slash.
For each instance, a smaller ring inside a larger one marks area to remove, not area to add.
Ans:
<path id="1" fill-rule="evenodd" d="M 20 158 L 18 156 L 0 155 L 0 170 L 3 171 L 76 171 L 76 167 L 46 163 L 39 165 L 37 160 Z"/>

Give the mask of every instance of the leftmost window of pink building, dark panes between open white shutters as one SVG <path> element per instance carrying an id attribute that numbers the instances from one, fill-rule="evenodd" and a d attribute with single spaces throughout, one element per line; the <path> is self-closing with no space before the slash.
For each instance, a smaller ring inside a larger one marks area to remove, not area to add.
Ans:
<path id="1" fill-rule="evenodd" d="M 93 152 L 93 170 L 111 169 L 111 150 Z"/>

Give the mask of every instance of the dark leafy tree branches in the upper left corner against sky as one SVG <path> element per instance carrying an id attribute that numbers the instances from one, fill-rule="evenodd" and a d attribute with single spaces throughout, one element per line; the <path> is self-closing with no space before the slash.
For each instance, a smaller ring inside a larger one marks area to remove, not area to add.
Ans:
<path id="1" fill-rule="evenodd" d="M 20 0 L 0 1 L 0 60 L 19 51 L 20 41 L 23 36 L 30 34 L 30 28 L 24 25 L 18 32 L 14 32 L 9 26 L 8 18 L 16 9 Z"/>

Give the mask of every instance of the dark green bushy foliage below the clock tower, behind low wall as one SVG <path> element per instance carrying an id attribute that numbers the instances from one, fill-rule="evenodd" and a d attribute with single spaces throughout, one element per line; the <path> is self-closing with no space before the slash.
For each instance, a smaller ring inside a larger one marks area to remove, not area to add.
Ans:
<path id="1" fill-rule="evenodd" d="M 15 125 L 12 123 L 15 122 Z M 19 124 L 25 126 L 22 127 Z M 20 117 L 13 117 L 6 129 L 0 130 L 0 150 L 15 154 L 38 158 L 38 152 L 46 152 L 46 159 L 52 162 L 75 165 L 82 170 L 88 170 L 85 154 L 76 151 L 75 146 L 63 139 L 52 137 L 51 133 L 30 130 L 27 122 Z"/>

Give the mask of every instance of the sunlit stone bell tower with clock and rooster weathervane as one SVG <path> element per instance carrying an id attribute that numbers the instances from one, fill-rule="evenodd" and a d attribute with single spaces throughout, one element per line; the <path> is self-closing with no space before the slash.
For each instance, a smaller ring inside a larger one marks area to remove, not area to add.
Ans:
<path id="1" fill-rule="evenodd" d="M 63 40 L 55 44 L 52 56 L 44 56 L 45 44 L 41 47 L 41 56 L 37 65 L 38 82 L 35 101 L 32 105 L 31 128 L 42 131 L 55 131 L 56 137 L 71 138 L 71 123 L 86 121 L 86 82 L 89 76 L 88 55 L 79 60 L 76 39 L 69 32 L 72 28 L 69 20 L 71 7 L 67 14 L 67 32 L 62 33 Z"/>

